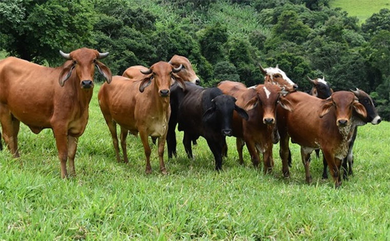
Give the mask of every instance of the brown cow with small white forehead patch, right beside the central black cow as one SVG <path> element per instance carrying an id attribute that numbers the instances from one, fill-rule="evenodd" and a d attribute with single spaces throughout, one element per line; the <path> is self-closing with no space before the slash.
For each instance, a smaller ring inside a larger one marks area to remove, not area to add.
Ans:
<path id="1" fill-rule="evenodd" d="M 280 96 L 277 85 L 257 85 L 256 88 L 246 88 L 239 82 L 224 81 L 218 85 L 224 94 L 237 98 L 236 104 L 246 109 L 249 119 L 245 121 L 233 113 L 232 135 L 236 136 L 237 151 L 240 164 L 243 164 L 242 148 L 244 142 L 248 148 L 252 163 L 259 165 L 258 152 L 263 154 L 264 172 L 274 167 L 272 158 L 272 130 L 275 126 L 275 112 L 278 102 L 283 108 L 290 109 L 289 102 Z"/>

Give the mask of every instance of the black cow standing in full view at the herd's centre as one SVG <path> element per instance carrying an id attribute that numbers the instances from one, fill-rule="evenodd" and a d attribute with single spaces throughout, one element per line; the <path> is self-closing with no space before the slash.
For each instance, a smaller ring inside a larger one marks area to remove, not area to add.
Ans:
<path id="1" fill-rule="evenodd" d="M 232 134 L 233 110 L 245 120 L 248 120 L 248 114 L 235 104 L 235 97 L 224 95 L 218 88 L 203 88 L 192 83 L 185 85 L 184 92 L 177 85 L 170 89 L 168 157 L 176 155 L 175 128 L 179 124 L 179 131 L 184 131 L 183 144 L 188 157 L 193 158 L 191 142 L 203 136 L 214 155 L 216 170 L 221 170 L 222 149 L 226 147 L 225 137 Z"/>

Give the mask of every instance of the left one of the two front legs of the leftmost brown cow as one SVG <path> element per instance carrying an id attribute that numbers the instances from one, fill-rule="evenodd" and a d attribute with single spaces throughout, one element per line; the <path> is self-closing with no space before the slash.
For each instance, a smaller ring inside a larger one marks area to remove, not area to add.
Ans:
<path id="1" fill-rule="evenodd" d="M 55 144 L 61 162 L 61 177 L 68 177 L 66 162 L 68 160 L 68 130 L 66 127 L 53 127 Z"/>

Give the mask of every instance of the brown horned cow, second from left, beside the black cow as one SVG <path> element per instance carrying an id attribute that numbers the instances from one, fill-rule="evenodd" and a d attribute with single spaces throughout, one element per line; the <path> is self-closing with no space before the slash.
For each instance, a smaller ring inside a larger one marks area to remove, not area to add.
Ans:
<path id="1" fill-rule="evenodd" d="M 181 67 L 174 68 L 166 62 L 158 62 L 147 71 L 142 71 L 140 81 L 123 76 L 114 76 L 110 85 L 103 84 L 99 90 L 100 109 L 112 135 L 116 159 L 120 162 L 116 123 L 121 126 L 121 145 L 124 162 L 128 162 L 126 150 L 127 133 L 140 133 L 146 155 L 146 173 L 151 173 L 148 136 L 159 138 L 160 170 L 164 166 L 164 146 L 171 113 L 169 87 L 176 81 L 185 89 L 183 79 L 177 74 Z M 148 87 L 150 85 L 150 87 Z"/>

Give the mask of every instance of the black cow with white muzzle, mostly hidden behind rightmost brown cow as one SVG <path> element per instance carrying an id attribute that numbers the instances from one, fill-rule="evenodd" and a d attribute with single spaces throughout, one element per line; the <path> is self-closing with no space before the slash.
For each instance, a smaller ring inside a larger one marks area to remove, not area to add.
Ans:
<path id="1" fill-rule="evenodd" d="M 373 99 L 366 92 L 359 90 L 359 89 L 356 89 L 355 91 L 352 91 L 352 92 L 358 98 L 359 103 L 362 104 L 364 106 L 364 108 L 366 109 L 367 117 L 365 119 L 361 119 L 361 118 L 357 117 L 358 116 L 357 114 L 354 113 L 354 115 L 353 115 L 352 125 L 354 125 L 355 128 L 353 128 L 351 130 L 353 132 L 353 133 L 351 133 L 352 137 L 350 138 L 350 140 L 348 140 L 348 154 L 346 157 L 343 158 L 343 161 L 342 161 L 342 166 L 344 169 L 344 172 L 343 172 L 344 179 L 347 179 L 347 173 L 348 173 L 348 175 L 353 174 L 353 171 L 352 171 L 352 165 L 354 163 L 353 147 L 354 147 L 355 139 L 356 139 L 356 136 L 358 133 L 358 126 L 364 126 L 365 124 L 370 123 L 370 122 L 373 125 L 377 125 L 382 121 L 381 117 L 378 115 L 377 110 L 375 109 Z M 327 165 L 326 160 L 324 158 L 324 172 L 322 173 L 322 177 L 325 179 L 328 178 L 328 175 L 326 172 L 327 166 L 328 165 Z"/>

